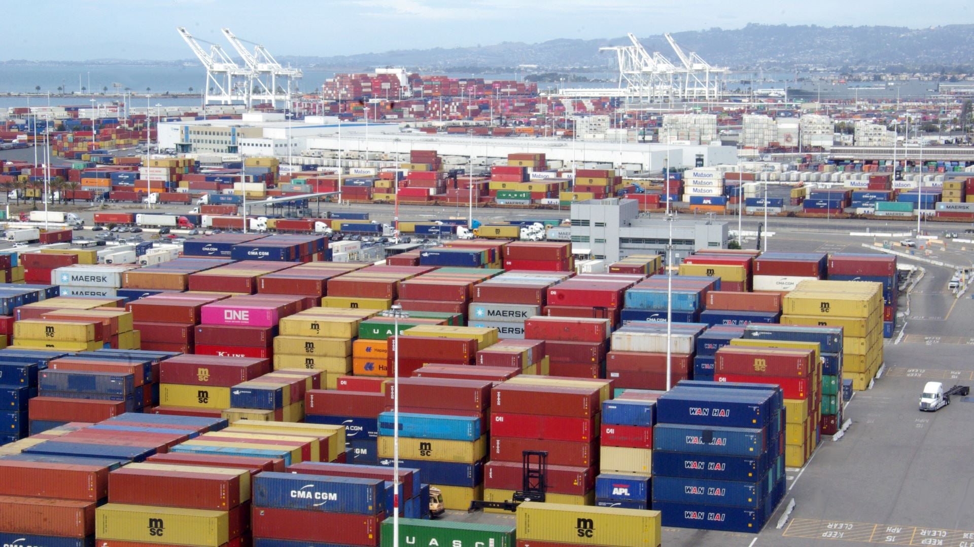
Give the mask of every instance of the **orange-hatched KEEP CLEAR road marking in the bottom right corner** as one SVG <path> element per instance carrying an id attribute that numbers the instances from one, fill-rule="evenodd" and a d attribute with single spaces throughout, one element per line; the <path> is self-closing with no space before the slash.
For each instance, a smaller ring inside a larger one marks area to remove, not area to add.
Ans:
<path id="1" fill-rule="evenodd" d="M 782 535 L 811 539 L 841 539 L 887 545 L 974 547 L 974 530 L 877 525 L 844 521 L 794 519 Z"/>

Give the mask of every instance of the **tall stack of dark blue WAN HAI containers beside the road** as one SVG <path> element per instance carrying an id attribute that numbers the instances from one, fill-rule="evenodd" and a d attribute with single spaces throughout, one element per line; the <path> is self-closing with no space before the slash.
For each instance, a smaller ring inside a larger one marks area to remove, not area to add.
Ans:
<path id="1" fill-rule="evenodd" d="M 782 392 L 681 383 L 656 400 L 653 507 L 663 526 L 758 533 L 785 492 Z"/>

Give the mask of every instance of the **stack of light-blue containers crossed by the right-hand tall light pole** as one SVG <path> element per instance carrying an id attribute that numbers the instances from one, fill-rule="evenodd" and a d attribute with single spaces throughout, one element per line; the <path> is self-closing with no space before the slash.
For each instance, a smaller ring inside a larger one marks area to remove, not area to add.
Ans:
<path id="1" fill-rule="evenodd" d="M 655 275 L 640 281 L 625 291 L 620 317 L 629 321 L 666 322 L 668 280 Z M 674 323 L 695 323 L 703 310 L 704 299 L 710 291 L 721 289 L 720 278 L 695 275 L 674 275 L 670 316 Z"/>

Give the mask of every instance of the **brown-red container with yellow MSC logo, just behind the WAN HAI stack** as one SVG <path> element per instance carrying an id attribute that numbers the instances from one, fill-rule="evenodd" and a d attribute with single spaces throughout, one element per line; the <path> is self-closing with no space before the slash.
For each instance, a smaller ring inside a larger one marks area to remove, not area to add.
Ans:
<path id="1" fill-rule="evenodd" d="M 811 349 L 724 346 L 717 350 L 714 374 L 808 378 L 815 370 Z"/>

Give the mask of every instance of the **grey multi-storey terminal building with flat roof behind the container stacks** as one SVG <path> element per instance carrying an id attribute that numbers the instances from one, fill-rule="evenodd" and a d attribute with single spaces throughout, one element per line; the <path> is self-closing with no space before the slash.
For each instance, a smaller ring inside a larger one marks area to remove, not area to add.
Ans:
<path id="1" fill-rule="evenodd" d="M 728 223 L 712 220 L 673 220 L 673 265 L 700 249 L 726 248 Z M 589 250 L 607 264 L 631 254 L 665 257 L 669 221 L 639 216 L 634 200 L 609 198 L 572 203 L 572 247 Z"/>

